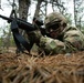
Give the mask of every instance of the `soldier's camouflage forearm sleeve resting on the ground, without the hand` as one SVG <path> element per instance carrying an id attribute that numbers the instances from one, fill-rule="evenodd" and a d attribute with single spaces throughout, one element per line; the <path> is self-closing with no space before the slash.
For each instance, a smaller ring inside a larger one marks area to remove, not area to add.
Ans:
<path id="1" fill-rule="evenodd" d="M 54 40 L 48 37 L 42 37 L 39 43 L 40 48 L 44 50 L 46 54 L 65 53 L 65 45 L 62 41 Z"/>

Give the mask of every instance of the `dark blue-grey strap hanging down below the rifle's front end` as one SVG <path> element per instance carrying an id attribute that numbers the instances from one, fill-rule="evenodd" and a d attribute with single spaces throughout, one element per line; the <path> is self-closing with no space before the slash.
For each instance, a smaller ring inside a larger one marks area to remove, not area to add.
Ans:
<path id="1" fill-rule="evenodd" d="M 13 19 L 11 22 L 11 31 L 13 33 L 13 39 L 19 51 L 23 51 L 22 46 L 30 52 L 31 45 L 25 41 L 25 39 L 19 33 L 19 27 L 17 20 Z"/>

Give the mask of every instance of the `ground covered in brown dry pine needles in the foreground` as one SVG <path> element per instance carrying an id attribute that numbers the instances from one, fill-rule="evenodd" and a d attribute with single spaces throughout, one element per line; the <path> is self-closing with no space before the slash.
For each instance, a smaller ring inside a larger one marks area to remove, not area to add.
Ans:
<path id="1" fill-rule="evenodd" d="M 84 83 L 84 51 L 49 56 L 2 53 L 0 83 Z"/>

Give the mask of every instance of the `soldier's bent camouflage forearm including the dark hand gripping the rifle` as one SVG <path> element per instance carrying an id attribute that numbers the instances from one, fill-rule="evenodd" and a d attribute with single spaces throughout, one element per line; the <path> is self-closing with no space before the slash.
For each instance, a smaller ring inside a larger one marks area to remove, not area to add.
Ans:
<path id="1" fill-rule="evenodd" d="M 65 49 L 63 42 L 43 37 L 38 30 L 29 33 L 29 40 L 30 42 L 36 43 L 45 54 L 63 53 Z"/>

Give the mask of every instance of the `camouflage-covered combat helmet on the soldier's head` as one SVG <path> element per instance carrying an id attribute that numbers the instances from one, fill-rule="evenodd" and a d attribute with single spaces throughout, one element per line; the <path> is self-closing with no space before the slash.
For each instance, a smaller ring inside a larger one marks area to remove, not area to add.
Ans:
<path id="1" fill-rule="evenodd" d="M 52 12 L 49 15 L 45 17 L 44 25 L 45 29 L 49 30 L 49 28 L 53 24 L 57 24 L 55 28 L 57 29 L 59 25 L 66 27 L 66 19 L 63 14 L 59 12 Z"/>

